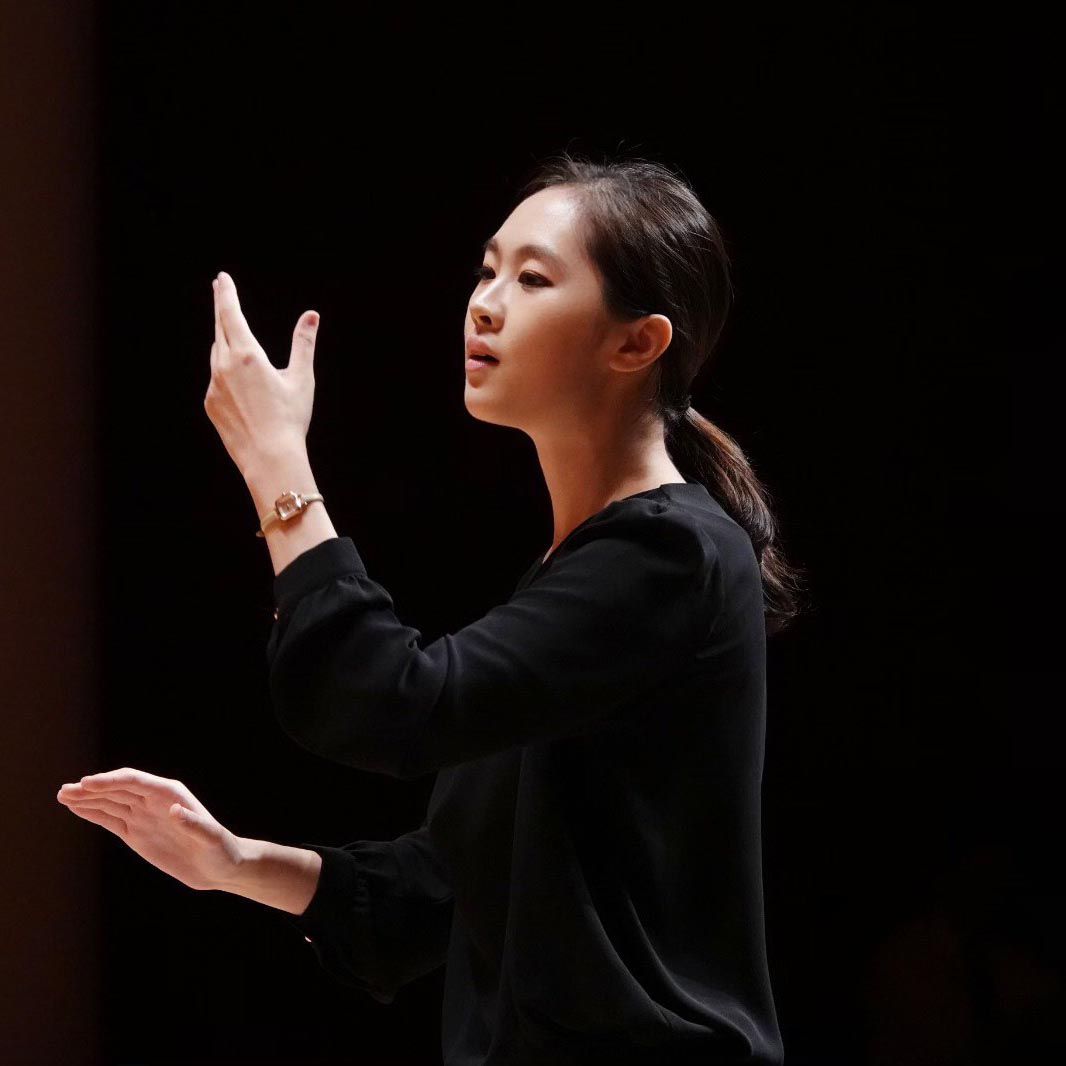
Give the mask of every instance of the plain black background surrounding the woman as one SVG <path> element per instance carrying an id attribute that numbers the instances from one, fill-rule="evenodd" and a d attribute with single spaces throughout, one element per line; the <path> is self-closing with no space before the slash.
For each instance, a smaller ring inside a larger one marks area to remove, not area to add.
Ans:
<path id="1" fill-rule="evenodd" d="M 71 888 L 66 924 L 26 957 L 69 970 L 78 928 L 77 981 L 39 984 L 59 1013 L 95 996 L 64 1061 L 439 1062 L 442 971 L 384 1007 L 322 972 L 281 912 L 187 889 L 52 796 L 129 765 L 184 781 L 241 836 L 340 844 L 419 824 L 432 775 L 330 764 L 273 720 L 273 571 L 203 408 L 210 282 L 233 276 L 276 366 L 297 317 L 321 313 L 318 485 L 433 640 L 505 599 L 550 540 L 532 443 L 464 408 L 462 333 L 481 242 L 563 148 L 679 167 L 733 254 L 738 302 L 694 403 L 766 482 L 813 604 L 769 652 L 766 921 L 787 1062 L 1062 1051 L 1057 849 L 1040 846 L 1061 836 L 1056 734 L 1040 736 L 1061 702 L 1057 395 L 1012 382 L 1061 351 L 1040 307 L 1062 276 L 1040 33 L 979 34 L 920 7 L 586 22 L 532 7 L 81 10 L 76 37 L 58 5 L 27 38 L 71 45 L 63 114 L 78 120 L 39 143 L 80 139 L 95 212 L 92 340 L 65 349 L 87 422 L 47 433 L 95 479 L 95 625 L 63 640 L 96 673 L 84 746 L 48 748 L 19 792 L 22 866 L 47 847 Z M 22 59 L 35 88 L 12 82 L 9 102 L 45 123 L 34 94 L 51 76 Z M 20 233 L 30 255 L 39 237 Z M 12 449 L 32 467 L 25 439 Z M 5 553 L 13 569 L 41 567 L 48 543 L 21 551 Z M 13 676 L 30 668 L 9 658 Z M 58 711 L 42 714 L 13 734 L 12 765 L 47 743 Z M 33 1050 L 50 1015 L 21 1018 L 26 1061 L 54 1061 Z"/>

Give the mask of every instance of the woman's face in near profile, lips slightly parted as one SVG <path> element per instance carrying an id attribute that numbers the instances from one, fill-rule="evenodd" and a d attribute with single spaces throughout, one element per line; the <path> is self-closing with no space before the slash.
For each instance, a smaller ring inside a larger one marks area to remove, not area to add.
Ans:
<path id="1" fill-rule="evenodd" d="M 464 339 L 483 342 L 499 364 L 472 365 L 464 353 L 467 410 L 527 431 L 580 424 L 602 404 L 617 329 L 581 247 L 571 191 L 534 193 L 489 239 L 474 280 Z"/>

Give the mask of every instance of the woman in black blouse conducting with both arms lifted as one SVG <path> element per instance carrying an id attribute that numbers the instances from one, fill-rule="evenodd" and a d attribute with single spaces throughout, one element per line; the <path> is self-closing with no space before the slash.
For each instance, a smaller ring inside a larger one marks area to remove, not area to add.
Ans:
<path id="1" fill-rule="evenodd" d="M 730 303 L 718 227 L 660 164 L 564 154 L 475 273 L 466 407 L 533 438 L 554 536 L 458 632 L 422 646 L 324 501 L 279 496 L 317 492 L 314 312 L 274 370 L 221 274 L 205 400 L 274 564 L 280 725 L 351 766 L 437 771 L 422 825 L 249 840 L 131 769 L 59 797 L 183 884 L 288 914 L 379 1002 L 445 964 L 445 1063 L 779 1063 L 765 639 L 798 584 L 742 452 L 689 404 Z"/>

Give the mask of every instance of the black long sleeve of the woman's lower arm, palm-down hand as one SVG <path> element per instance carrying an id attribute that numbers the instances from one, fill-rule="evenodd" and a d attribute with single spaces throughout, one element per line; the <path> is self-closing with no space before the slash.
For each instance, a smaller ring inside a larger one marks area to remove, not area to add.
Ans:
<path id="1" fill-rule="evenodd" d="M 453 895 L 424 824 L 397 840 L 300 846 L 322 856 L 322 870 L 307 908 L 288 920 L 333 976 L 391 1003 L 445 964 Z"/>

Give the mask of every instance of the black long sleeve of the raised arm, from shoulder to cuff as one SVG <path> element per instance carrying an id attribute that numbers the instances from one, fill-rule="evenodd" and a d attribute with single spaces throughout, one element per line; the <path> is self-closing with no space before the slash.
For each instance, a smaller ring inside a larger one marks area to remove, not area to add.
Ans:
<path id="1" fill-rule="evenodd" d="M 715 564 L 682 508 L 618 500 L 506 603 L 423 646 L 351 537 L 330 538 L 274 579 L 275 714 L 308 750 L 401 778 L 594 729 L 691 661 Z"/>

